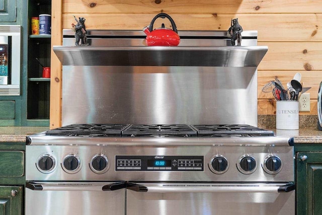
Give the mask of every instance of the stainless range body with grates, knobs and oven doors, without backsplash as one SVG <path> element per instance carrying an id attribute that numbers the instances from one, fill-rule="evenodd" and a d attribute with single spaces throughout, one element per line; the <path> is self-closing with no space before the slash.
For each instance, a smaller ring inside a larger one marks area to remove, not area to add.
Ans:
<path id="1" fill-rule="evenodd" d="M 48 130 L 27 137 L 26 215 L 294 214 L 291 142 L 250 125 Z"/>

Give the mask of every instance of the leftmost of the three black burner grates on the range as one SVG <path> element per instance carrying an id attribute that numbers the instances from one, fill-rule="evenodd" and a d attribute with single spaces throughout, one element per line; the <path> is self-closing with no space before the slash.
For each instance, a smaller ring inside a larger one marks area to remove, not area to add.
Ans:
<path id="1" fill-rule="evenodd" d="M 46 131 L 46 135 L 90 135 L 107 134 L 121 136 L 129 124 L 71 124 Z"/>

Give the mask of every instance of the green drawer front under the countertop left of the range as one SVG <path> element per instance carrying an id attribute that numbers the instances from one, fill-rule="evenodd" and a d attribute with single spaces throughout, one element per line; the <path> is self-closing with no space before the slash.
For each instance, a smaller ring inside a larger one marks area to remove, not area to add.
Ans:
<path id="1" fill-rule="evenodd" d="M 0 151 L 0 177 L 23 176 L 24 160 L 22 151 Z"/>

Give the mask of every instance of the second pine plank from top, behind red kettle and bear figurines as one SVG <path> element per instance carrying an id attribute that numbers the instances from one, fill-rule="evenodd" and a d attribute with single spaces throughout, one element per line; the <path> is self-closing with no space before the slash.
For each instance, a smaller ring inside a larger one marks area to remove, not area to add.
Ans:
<path id="1" fill-rule="evenodd" d="M 63 28 L 71 28 L 75 23 L 73 14 L 63 14 Z M 86 18 L 87 29 L 129 29 L 142 30 L 150 24 L 155 14 L 81 14 Z M 258 41 L 322 41 L 322 32 L 318 26 L 322 23 L 322 14 L 174 14 L 178 30 L 228 30 L 232 18 L 238 21 L 244 30 L 257 30 Z M 157 19 L 155 28 L 165 22 Z"/>

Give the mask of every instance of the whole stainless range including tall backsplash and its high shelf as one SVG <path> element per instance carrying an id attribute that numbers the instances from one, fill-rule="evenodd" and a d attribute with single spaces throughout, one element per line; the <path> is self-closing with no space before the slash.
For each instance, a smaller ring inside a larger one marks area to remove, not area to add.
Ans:
<path id="1" fill-rule="evenodd" d="M 63 127 L 27 139 L 26 215 L 294 214 L 290 139 L 256 127 L 256 31 L 73 34 L 53 47 Z"/>

